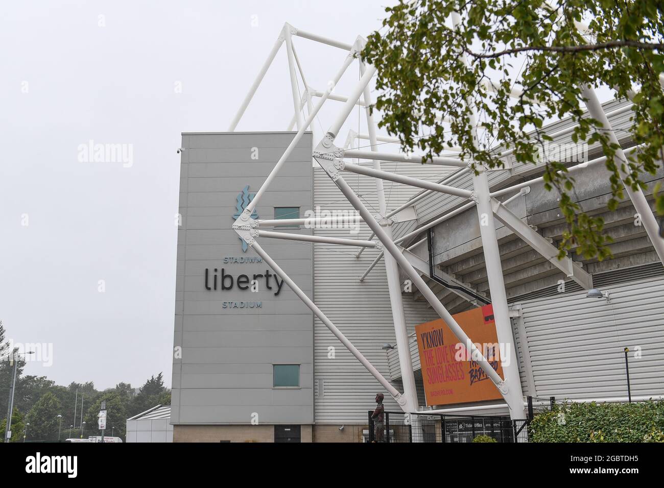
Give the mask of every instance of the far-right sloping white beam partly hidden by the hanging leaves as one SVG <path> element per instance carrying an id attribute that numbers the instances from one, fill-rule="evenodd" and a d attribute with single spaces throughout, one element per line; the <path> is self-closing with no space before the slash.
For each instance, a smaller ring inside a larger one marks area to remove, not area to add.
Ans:
<path id="1" fill-rule="evenodd" d="M 616 167 L 618 167 L 618 174 L 624 185 L 625 178 L 627 177 L 627 172 L 625 170 L 629 168 L 629 162 L 627 161 L 625 152 L 620 147 L 620 143 L 618 143 L 618 137 L 616 137 L 616 133 L 611 127 L 608 117 L 604 113 L 604 110 L 602 110 L 602 104 L 600 104 L 600 100 L 598 100 L 595 90 L 591 86 L 582 86 L 581 93 L 586 100 L 586 107 L 588 108 L 590 116 L 602 124 L 602 128 L 599 130 L 604 131 L 604 133 L 608 135 L 609 141 L 618 146 L 614 159 L 616 160 Z M 664 239 L 659 236 L 657 220 L 650 209 L 648 201 L 645 199 L 645 195 L 643 195 L 641 189 L 637 188 L 637 190 L 634 191 L 630 185 L 624 186 L 625 191 L 629 196 L 629 200 L 631 200 L 631 203 L 634 205 L 637 214 L 641 216 L 641 223 L 650 238 L 650 242 L 653 244 L 653 247 L 657 252 L 657 256 L 659 256 L 659 261 L 664 264 Z"/>

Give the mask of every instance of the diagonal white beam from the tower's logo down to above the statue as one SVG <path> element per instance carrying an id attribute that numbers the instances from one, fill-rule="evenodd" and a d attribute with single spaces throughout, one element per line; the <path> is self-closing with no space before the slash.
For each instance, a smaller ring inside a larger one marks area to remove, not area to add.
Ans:
<path id="1" fill-rule="evenodd" d="M 244 238 L 242 234 L 240 236 Z M 332 321 L 327 318 L 327 316 L 321 311 L 321 309 L 319 309 L 316 306 L 315 303 L 313 303 L 311 298 L 307 297 L 307 294 L 304 293 L 304 291 L 302 291 L 302 289 L 299 286 L 297 286 L 295 282 L 293 282 L 290 276 L 288 276 L 288 274 L 286 274 L 282 270 L 282 268 L 280 268 L 280 266 L 276 264 L 276 262 L 274 262 L 272 258 L 270 258 L 270 255 L 268 255 L 268 253 L 265 252 L 265 250 L 260 246 L 260 244 L 258 244 L 258 242 L 254 240 L 254 238 L 250 236 L 246 237 L 250 241 L 247 242 L 247 244 L 249 244 L 249 246 L 254 251 L 256 251 L 256 254 L 258 254 L 258 256 L 260 256 L 270 266 L 270 268 L 272 268 L 272 270 L 276 274 L 278 274 L 278 276 L 282 280 L 284 280 L 284 282 L 286 282 L 286 284 L 290 287 L 290 289 L 293 290 L 295 295 L 297 295 L 297 297 L 299 297 L 299 299 L 301 299 L 301 301 L 303 301 L 303 303 L 307 305 L 307 307 L 309 307 L 311 311 L 313 311 L 316 317 L 318 317 L 320 321 L 323 322 L 323 324 L 325 324 L 325 327 L 327 327 L 331 331 L 331 333 L 333 333 L 335 337 L 337 337 L 337 339 L 341 341 L 341 343 L 346 347 L 346 349 L 348 349 L 351 352 L 351 354 L 355 356 L 357 360 L 360 361 L 360 363 L 362 363 L 363 366 L 365 366 L 365 368 L 367 368 L 367 370 L 374 376 L 374 378 L 376 378 L 376 380 L 378 380 L 378 382 L 383 386 L 383 388 L 385 388 L 388 391 L 388 393 L 392 395 L 392 397 L 398 402 L 398 404 L 403 405 L 404 399 L 402 398 L 398 390 L 394 388 L 394 386 L 392 386 L 392 384 L 390 384 L 390 382 L 382 374 L 380 374 L 380 371 L 378 371 L 375 368 L 375 366 L 369 362 L 369 359 L 364 357 L 364 355 L 357 349 L 357 347 L 355 347 L 353 343 L 351 343 L 351 341 L 349 341 L 348 338 L 345 335 L 343 335 L 343 333 L 341 333 L 339 329 L 337 329 L 337 326 L 334 325 Z"/>

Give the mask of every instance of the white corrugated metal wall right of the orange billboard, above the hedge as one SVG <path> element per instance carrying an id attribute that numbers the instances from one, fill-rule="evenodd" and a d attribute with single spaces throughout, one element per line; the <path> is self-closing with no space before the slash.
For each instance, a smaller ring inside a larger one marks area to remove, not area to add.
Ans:
<path id="1" fill-rule="evenodd" d="M 610 303 L 586 298 L 585 291 L 521 302 L 525 337 L 520 339 L 530 353 L 534 394 L 627 396 L 625 347 L 631 351 L 631 394 L 664 394 L 664 278 L 604 291 L 610 292 Z"/>

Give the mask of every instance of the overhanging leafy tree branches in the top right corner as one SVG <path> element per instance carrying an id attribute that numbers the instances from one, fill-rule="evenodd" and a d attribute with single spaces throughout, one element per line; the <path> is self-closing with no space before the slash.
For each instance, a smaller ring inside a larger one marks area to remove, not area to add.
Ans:
<path id="1" fill-rule="evenodd" d="M 382 94 L 375 108 L 384 112 L 378 125 L 398 135 L 402 149 L 438 155 L 456 146 L 473 169 L 495 168 L 503 161 L 489 145 L 498 140 L 503 149 L 513 149 L 516 161 L 537 163 L 538 147 L 552 140 L 540 131 L 543 123 L 569 117 L 578 124 L 574 143 L 600 143 L 607 155 L 610 210 L 625 198 L 623 181 L 646 189 L 644 177 L 655 174 L 664 155 L 660 2 L 414 0 L 386 12 L 383 29 L 369 37 L 362 56 L 378 70 Z M 446 23 L 452 15 L 458 15 L 456 26 Z M 588 29 L 581 33 L 583 21 Z M 523 92 L 513 101 L 512 76 L 519 73 L 517 88 Z M 584 113 L 583 86 L 608 86 L 616 98 L 633 96 L 629 133 L 641 148 L 627 163 L 614 157 L 618 146 Z M 477 125 L 486 129 L 479 137 L 471 123 L 473 107 Z M 559 256 L 576 249 L 586 258 L 609 257 L 604 222 L 570 197 L 574 178 L 562 161 L 546 162 L 544 182 L 560 194 L 567 223 Z M 664 213 L 661 193 L 656 208 Z"/>

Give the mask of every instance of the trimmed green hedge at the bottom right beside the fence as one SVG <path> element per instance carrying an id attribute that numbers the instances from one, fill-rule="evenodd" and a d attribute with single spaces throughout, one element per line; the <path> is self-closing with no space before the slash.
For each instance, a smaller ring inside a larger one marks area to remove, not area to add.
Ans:
<path id="1" fill-rule="evenodd" d="M 570 403 L 538 414 L 533 442 L 664 442 L 664 402 Z"/>

